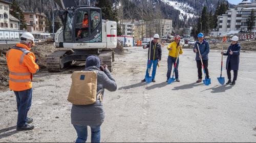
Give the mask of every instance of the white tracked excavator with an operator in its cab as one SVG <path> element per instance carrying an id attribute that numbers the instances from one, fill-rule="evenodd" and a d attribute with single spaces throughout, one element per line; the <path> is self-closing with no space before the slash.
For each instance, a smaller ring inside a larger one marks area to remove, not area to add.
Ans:
<path id="1" fill-rule="evenodd" d="M 85 62 L 88 56 L 97 55 L 101 65 L 108 65 L 112 71 L 117 23 L 102 20 L 100 8 L 79 6 L 75 0 L 54 0 L 54 3 L 63 26 L 54 37 L 55 47 L 60 50 L 47 57 L 47 70 L 61 72 L 72 63 Z"/>

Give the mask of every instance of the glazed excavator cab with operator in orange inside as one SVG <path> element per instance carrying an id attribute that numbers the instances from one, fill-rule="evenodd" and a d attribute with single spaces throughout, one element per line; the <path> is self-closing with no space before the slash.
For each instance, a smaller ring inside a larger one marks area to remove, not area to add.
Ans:
<path id="1" fill-rule="evenodd" d="M 101 43 L 101 9 L 79 6 L 62 12 L 64 43 Z"/>

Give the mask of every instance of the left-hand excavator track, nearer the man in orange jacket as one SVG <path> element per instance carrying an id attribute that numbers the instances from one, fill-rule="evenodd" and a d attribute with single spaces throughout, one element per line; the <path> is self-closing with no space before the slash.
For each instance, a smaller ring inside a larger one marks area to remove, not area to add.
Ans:
<path id="1" fill-rule="evenodd" d="M 47 56 L 46 67 L 49 72 L 61 72 L 65 70 L 68 66 L 65 67 L 63 62 L 63 56 L 72 54 L 72 50 L 57 50 Z"/>

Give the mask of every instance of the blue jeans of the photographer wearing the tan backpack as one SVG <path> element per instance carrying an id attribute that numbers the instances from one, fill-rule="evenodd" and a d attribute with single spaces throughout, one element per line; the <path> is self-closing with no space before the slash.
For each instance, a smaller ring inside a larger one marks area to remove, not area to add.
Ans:
<path id="1" fill-rule="evenodd" d="M 100 126 L 90 126 L 91 127 L 91 142 L 100 142 Z M 76 142 L 86 142 L 87 141 L 87 126 L 76 126 L 74 125 L 77 133 Z"/>

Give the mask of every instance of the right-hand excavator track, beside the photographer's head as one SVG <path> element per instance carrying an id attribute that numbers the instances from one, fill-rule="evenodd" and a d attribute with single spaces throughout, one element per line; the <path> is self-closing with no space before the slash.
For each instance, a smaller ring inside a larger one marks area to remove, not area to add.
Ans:
<path id="1" fill-rule="evenodd" d="M 103 50 L 99 54 L 99 59 L 101 65 L 108 65 L 108 69 L 112 72 L 112 62 L 114 61 L 113 51 L 112 50 Z"/>

